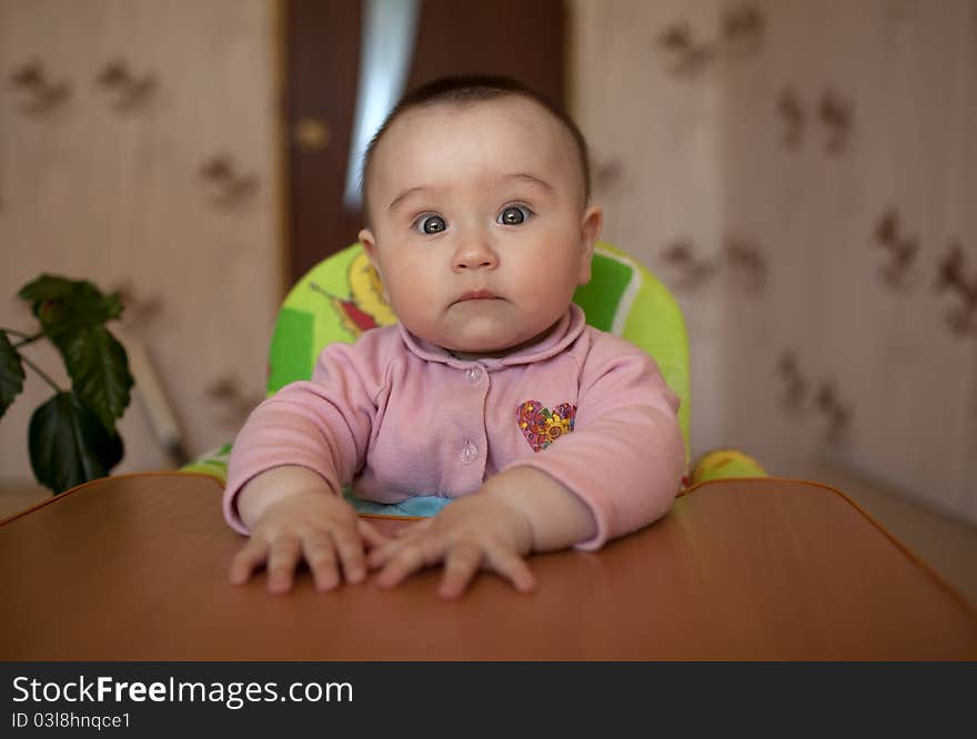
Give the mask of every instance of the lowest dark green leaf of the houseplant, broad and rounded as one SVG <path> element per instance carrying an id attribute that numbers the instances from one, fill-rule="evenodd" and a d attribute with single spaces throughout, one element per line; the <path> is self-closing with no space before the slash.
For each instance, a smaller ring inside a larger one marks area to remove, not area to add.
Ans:
<path id="1" fill-rule="evenodd" d="M 73 393 L 58 393 L 31 416 L 31 467 L 56 494 L 104 477 L 122 459 L 122 439 L 110 434 Z"/>

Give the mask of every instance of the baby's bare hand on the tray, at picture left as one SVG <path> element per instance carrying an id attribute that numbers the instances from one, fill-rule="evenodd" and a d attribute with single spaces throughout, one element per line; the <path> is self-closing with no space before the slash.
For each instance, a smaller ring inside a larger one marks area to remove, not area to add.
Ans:
<path id="1" fill-rule="evenodd" d="M 340 564 L 346 583 L 359 583 L 366 576 L 364 543 L 372 548 L 385 541 L 328 488 L 294 493 L 271 503 L 254 523 L 251 539 L 231 561 L 231 583 L 246 583 L 265 565 L 269 593 L 288 593 L 304 559 L 315 588 L 331 590 L 342 581 Z"/>

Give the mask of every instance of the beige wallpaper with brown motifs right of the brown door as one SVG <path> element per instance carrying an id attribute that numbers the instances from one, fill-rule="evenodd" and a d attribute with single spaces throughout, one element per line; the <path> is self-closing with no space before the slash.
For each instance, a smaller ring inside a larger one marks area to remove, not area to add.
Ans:
<path id="1" fill-rule="evenodd" d="M 605 235 L 686 312 L 696 452 L 977 522 L 977 2 L 572 8 Z"/>

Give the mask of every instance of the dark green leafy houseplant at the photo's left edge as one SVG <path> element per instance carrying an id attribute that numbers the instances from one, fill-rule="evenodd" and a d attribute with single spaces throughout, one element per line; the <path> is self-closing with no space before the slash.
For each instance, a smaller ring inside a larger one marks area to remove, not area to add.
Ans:
<path id="1" fill-rule="evenodd" d="M 0 326 L 0 417 L 23 389 L 24 367 L 54 391 L 33 412 L 28 428 L 31 468 L 57 495 L 104 477 L 122 459 L 115 421 L 131 399 L 133 381 L 122 344 L 105 327 L 122 315 L 118 293 L 102 294 L 82 280 L 42 274 L 18 296 L 40 324 L 34 333 Z M 71 387 L 63 388 L 21 350 L 37 341 L 58 350 Z"/>

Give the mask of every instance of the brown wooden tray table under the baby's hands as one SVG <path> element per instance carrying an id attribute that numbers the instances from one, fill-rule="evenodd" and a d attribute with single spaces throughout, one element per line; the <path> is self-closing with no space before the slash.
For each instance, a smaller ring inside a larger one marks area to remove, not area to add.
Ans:
<path id="1" fill-rule="evenodd" d="M 977 613 L 843 494 L 713 482 L 521 595 L 440 571 L 288 596 L 226 580 L 243 538 L 200 475 L 110 477 L 0 524 L 4 660 L 975 659 Z"/>

